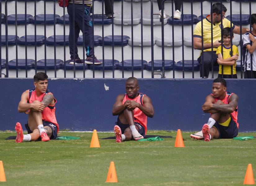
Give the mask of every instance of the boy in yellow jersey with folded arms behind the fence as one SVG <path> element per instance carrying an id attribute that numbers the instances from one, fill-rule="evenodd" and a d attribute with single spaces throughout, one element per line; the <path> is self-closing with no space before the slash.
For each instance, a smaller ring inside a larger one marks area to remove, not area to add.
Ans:
<path id="1" fill-rule="evenodd" d="M 231 46 L 231 37 L 234 38 L 230 28 L 224 28 L 222 30 L 223 43 L 217 48 L 216 54 L 218 55 L 217 63 L 219 64 L 218 78 L 237 78 L 236 75 L 236 60 L 238 59 L 238 48 L 236 45 Z M 231 53 L 232 47 L 232 53 Z M 223 50 L 223 57 L 221 53 Z M 231 55 L 232 54 L 232 55 Z M 223 74 L 222 74 L 223 67 Z M 232 68 L 231 68 L 232 67 Z M 232 73 L 231 73 L 232 69 Z"/>

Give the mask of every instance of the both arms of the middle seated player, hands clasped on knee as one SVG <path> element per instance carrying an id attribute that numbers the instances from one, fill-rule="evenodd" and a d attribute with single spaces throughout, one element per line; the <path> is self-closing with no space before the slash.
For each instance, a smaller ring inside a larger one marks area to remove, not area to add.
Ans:
<path id="1" fill-rule="evenodd" d="M 139 108 L 146 116 L 153 117 L 154 116 L 154 108 L 151 103 L 151 99 L 148 96 L 143 97 L 143 105 L 137 103 L 136 101 L 127 100 L 124 102 L 124 95 L 120 94 L 116 97 L 115 104 L 112 109 L 113 116 L 120 115 L 126 108 L 128 110 L 134 110 L 136 107 Z"/>

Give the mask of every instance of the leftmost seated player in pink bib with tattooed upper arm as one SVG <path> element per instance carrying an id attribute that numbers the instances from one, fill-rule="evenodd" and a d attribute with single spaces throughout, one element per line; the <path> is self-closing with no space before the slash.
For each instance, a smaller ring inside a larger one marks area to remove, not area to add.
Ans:
<path id="1" fill-rule="evenodd" d="M 59 125 L 55 117 L 56 100 L 53 94 L 47 90 L 46 73 L 39 72 L 34 76 L 33 90 L 26 90 L 22 93 L 18 111 L 28 114 L 28 123 L 25 127 L 27 135 L 23 135 L 22 127 L 16 123 L 16 143 L 23 141 L 35 141 L 41 137 L 42 141 L 55 139 L 59 131 Z"/>

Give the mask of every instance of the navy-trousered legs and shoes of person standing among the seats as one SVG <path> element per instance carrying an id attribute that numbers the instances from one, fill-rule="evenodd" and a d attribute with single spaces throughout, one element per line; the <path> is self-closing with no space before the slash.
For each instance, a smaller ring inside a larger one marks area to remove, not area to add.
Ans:
<path id="1" fill-rule="evenodd" d="M 68 14 L 69 14 L 69 50 L 70 50 L 70 64 L 78 63 L 83 64 L 83 61 L 80 60 L 78 56 L 78 49 L 77 49 L 77 40 L 79 37 L 80 30 L 84 33 L 85 38 L 85 50 L 86 50 L 86 64 L 93 64 L 92 63 L 92 20 L 90 17 L 90 9 L 91 4 L 84 4 L 83 10 L 83 1 L 81 0 L 74 0 L 75 4 L 73 5 L 73 0 L 69 1 L 69 5 L 67 6 Z M 87 1 L 84 1 L 87 3 Z M 81 4 L 82 3 L 82 4 Z M 90 3 L 90 2 L 88 2 Z M 75 11 L 73 12 L 73 6 Z M 83 11 L 84 11 L 84 20 L 83 20 Z M 74 27 L 73 27 L 73 16 L 74 16 Z M 84 24 L 84 31 L 83 31 L 83 24 Z M 75 34 L 73 35 L 73 30 Z M 75 42 L 75 45 L 74 45 Z M 102 64 L 96 57 L 94 57 L 94 64 Z"/>

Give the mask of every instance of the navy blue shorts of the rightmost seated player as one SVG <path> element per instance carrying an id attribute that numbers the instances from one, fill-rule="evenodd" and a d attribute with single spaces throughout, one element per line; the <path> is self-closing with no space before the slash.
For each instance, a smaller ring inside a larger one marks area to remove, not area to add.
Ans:
<path id="1" fill-rule="evenodd" d="M 234 122 L 232 117 L 228 126 L 222 126 L 218 122 L 216 122 L 213 126 L 219 132 L 218 139 L 232 139 L 233 137 L 236 137 L 238 134 L 236 122 Z"/>

